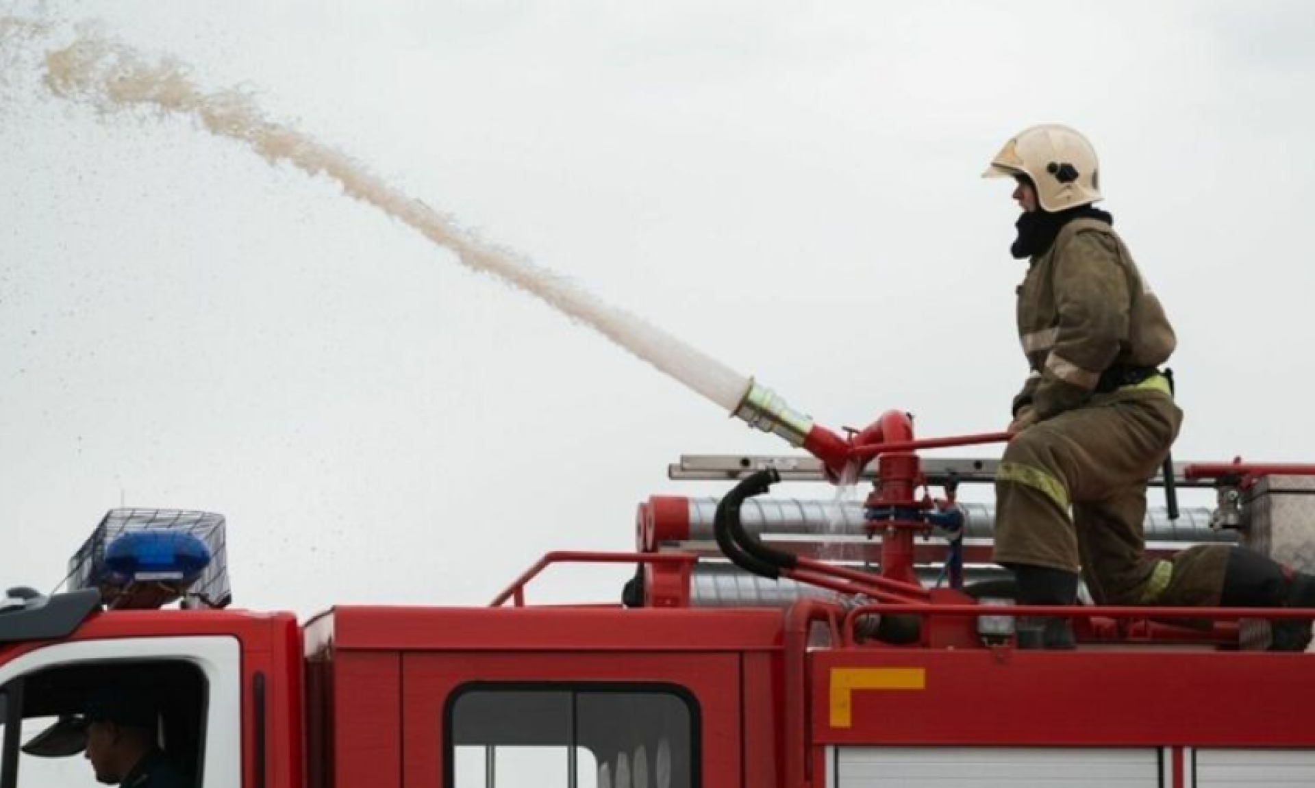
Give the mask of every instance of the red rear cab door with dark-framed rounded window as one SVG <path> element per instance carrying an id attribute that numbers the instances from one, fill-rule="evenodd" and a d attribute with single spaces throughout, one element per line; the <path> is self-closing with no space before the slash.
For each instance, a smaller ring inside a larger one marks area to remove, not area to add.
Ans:
<path id="1" fill-rule="evenodd" d="M 408 654 L 404 785 L 740 785 L 739 717 L 735 654 Z"/>

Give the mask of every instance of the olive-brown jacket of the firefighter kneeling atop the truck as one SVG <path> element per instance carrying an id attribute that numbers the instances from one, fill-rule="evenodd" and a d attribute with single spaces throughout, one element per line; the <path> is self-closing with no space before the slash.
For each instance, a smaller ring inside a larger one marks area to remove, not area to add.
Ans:
<path id="1" fill-rule="evenodd" d="M 1128 247 L 1095 218 L 1076 218 L 1031 258 L 1018 288 L 1018 337 L 1031 366 L 1014 414 L 1045 420 L 1112 389 L 1111 372 L 1168 360 L 1176 339 Z"/>

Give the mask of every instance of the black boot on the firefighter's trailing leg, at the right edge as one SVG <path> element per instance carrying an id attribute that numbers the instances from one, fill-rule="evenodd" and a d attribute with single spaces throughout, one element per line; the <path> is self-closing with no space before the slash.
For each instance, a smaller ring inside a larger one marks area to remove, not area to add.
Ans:
<path id="1" fill-rule="evenodd" d="M 1226 608 L 1315 608 L 1315 576 L 1294 572 L 1245 547 L 1233 547 L 1228 553 L 1219 604 Z M 1269 631 L 1270 651 L 1304 651 L 1311 642 L 1310 620 L 1278 618 L 1270 622 Z"/>

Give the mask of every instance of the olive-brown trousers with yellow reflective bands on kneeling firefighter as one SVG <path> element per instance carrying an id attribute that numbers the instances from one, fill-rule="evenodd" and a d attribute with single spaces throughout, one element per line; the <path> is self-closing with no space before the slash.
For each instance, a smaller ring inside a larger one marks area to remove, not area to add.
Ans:
<path id="1" fill-rule="evenodd" d="M 1014 435 L 995 475 L 995 562 L 1081 571 L 1097 604 L 1216 605 L 1227 546 L 1144 555 L 1147 481 L 1181 424 L 1168 393 L 1139 385 Z"/>

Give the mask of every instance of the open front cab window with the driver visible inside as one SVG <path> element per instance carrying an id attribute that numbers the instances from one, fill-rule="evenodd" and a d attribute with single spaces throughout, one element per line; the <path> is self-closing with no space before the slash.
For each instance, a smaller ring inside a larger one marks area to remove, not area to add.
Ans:
<path id="1" fill-rule="evenodd" d="M 118 784 L 143 758 L 185 785 L 197 784 L 206 687 L 195 666 L 80 663 L 18 681 L 21 714 L 11 721 L 18 735 L 4 738 L 5 768 L 17 766 L 16 788 Z M 110 722 L 116 733 L 108 741 L 103 734 Z M 88 742 L 96 758 L 87 756 Z"/>

